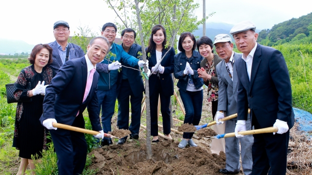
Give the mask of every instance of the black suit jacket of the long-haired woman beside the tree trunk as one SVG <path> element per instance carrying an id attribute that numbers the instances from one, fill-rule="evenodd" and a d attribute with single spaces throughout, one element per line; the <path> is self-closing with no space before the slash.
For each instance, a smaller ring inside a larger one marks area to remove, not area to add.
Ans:
<path id="1" fill-rule="evenodd" d="M 145 49 L 145 51 L 147 48 Z M 168 51 L 168 49 L 162 50 L 161 57 L 164 56 L 164 54 Z M 146 52 L 146 56 L 147 56 Z M 149 69 L 152 70 L 152 67 L 154 67 L 157 64 L 156 60 L 156 51 L 153 51 L 150 53 L 151 56 L 148 58 L 149 62 Z M 153 93 L 155 90 L 155 85 L 157 83 L 157 79 L 160 79 L 161 83 L 161 89 L 164 95 L 171 96 L 174 94 L 174 83 L 172 80 L 171 74 L 174 72 L 174 56 L 176 52 L 173 47 L 170 48 L 169 53 L 166 54 L 166 56 L 161 61 L 161 66 L 165 68 L 164 73 L 159 73 L 159 77 L 156 74 L 152 74 L 149 78 L 149 87 L 150 87 L 150 93 Z"/>

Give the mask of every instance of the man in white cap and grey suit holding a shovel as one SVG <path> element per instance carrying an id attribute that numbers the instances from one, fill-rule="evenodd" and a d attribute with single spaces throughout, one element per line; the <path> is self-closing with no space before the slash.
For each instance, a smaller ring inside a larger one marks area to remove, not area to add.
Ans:
<path id="1" fill-rule="evenodd" d="M 219 80 L 219 102 L 218 111 L 215 115 L 217 124 L 224 122 L 219 121 L 224 116 L 237 113 L 236 97 L 237 97 L 237 72 L 236 61 L 241 59 L 241 53 L 233 51 L 232 38 L 226 34 L 215 36 L 215 51 L 218 53 L 222 61 L 216 66 L 217 77 Z M 241 70 L 238 70 L 241 71 Z M 237 118 L 225 121 L 225 133 L 232 133 L 235 130 Z M 246 129 L 251 130 L 250 116 L 246 121 Z M 239 163 L 239 142 L 241 144 L 242 167 L 245 175 L 252 173 L 253 159 L 252 146 L 254 137 L 252 135 L 243 138 L 225 138 L 225 169 L 220 169 L 222 174 L 237 174 L 240 171 Z"/>

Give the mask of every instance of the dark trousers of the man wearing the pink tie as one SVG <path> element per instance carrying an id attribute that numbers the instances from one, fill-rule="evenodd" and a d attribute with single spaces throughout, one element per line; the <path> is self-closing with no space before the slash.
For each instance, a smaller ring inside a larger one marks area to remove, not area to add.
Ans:
<path id="1" fill-rule="evenodd" d="M 72 126 L 84 128 L 82 114 L 79 113 Z M 59 175 L 81 175 L 87 158 L 84 134 L 60 128 L 49 131 L 58 156 Z"/>

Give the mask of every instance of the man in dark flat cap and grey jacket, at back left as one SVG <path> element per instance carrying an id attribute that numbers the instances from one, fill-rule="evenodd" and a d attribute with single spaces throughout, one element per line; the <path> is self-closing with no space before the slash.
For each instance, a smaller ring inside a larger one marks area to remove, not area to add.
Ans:
<path id="1" fill-rule="evenodd" d="M 69 25 L 66 21 L 59 20 L 55 22 L 53 29 L 53 34 L 56 40 L 49 43 L 49 45 L 53 49 L 53 62 L 50 66 L 58 73 L 59 68 L 67 60 L 81 58 L 82 56 L 84 56 L 84 52 L 78 45 L 67 42 L 70 31 Z"/>

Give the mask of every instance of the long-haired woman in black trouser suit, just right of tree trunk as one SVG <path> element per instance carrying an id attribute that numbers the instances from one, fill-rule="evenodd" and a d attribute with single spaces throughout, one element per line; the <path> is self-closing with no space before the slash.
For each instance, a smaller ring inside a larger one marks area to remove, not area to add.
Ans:
<path id="1" fill-rule="evenodd" d="M 162 114 L 162 123 L 164 134 L 170 136 L 170 97 L 174 94 L 174 86 L 171 73 L 174 72 L 175 50 L 167 44 L 167 35 L 165 28 L 157 24 L 152 29 L 149 39 L 149 46 L 146 48 L 146 55 L 149 60 L 149 69 L 153 72 L 149 78 L 150 88 L 150 106 L 151 106 L 151 135 L 152 142 L 158 142 L 158 123 L 157 123 L 157 105 L 158 96 L 160 97 L 160 111 Z M 169 52 L 164 56 L 164 54 Z M 161 60 L 158 68 L 155 68 L 157 62 Z"/>

